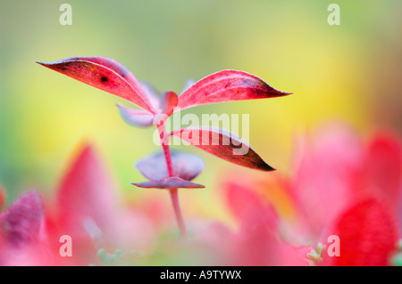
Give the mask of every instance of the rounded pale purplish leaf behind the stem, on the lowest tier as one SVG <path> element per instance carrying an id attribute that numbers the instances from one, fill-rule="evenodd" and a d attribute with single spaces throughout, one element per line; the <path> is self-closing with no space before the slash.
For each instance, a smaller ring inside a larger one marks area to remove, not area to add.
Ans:
<path id="1" fill-rule="evenodd" d="M 204 169 L 204 160 L 195 154 L 172 152 L 173 173 L 176 177 L 191 181 Z M 161 180 L 169 177 L 163 152 L 158 152 L 137 163 L 138 171 L 149 180 Z"/>

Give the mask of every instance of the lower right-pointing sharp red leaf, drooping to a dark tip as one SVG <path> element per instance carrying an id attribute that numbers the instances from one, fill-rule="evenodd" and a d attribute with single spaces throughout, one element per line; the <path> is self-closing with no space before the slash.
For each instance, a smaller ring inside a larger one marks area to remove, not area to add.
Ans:
<path id="1" fill-rule="evenodd" d="M 188 127 L 173 130 L 170 136 L 172 135 L 231 163 L 263 171 L 274 170 L 247 142 L 222 129 Z"/>

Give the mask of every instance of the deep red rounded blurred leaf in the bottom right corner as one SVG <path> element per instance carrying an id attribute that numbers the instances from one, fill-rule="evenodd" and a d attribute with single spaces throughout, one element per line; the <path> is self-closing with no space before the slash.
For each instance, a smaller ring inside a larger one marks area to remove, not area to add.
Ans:
<path id="1" fill-rule="evenodd" d="M 398 229 L 388 207 L 377 199 L 365 199 L 339 216 L 335 225 L 340 256 L 337 265 L 388 265 L 396 249 Z"/>

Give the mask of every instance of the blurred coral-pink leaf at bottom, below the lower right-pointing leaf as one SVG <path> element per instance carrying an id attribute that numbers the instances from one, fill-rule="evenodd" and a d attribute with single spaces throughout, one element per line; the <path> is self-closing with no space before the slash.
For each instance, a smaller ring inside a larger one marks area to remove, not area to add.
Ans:
<path id="1" fill-rule="evenodd" d="M 280 239 L 279 216 L 251 187 L 225 183 L 225 199 L 239 223 L 231 243 L 231 265 L 306 264 L 306 248 L 291 247 Z"/>

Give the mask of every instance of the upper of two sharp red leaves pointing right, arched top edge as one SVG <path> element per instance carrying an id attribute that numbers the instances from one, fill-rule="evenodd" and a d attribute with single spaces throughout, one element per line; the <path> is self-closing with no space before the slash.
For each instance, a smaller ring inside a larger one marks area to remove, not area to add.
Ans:
<path id="1" fill-rule="evenodd" d="M 281 92 L 247 72 L 222 70 L 202 78 L 179 97 L 178 108 L 188 109 L 223 101 L 264 99 L 290 93 Z"/>

